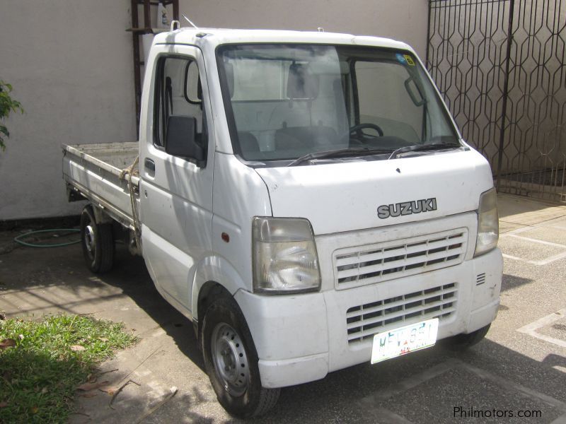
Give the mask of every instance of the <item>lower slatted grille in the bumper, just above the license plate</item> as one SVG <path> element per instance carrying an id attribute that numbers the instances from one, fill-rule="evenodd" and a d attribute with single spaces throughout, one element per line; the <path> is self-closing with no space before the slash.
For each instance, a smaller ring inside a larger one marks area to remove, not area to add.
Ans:
<path id="1" fill-rule="evenodd" d="M 456 283 L 450 283 L 351 307 L 346 312 L 348 343 L 425 319 L 446 319 L 456 310 L 456 293 Z"/>

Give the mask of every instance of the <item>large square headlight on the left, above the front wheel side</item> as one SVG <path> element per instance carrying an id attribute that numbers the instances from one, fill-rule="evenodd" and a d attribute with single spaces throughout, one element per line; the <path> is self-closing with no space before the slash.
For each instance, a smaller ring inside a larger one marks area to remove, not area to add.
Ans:
<path id="1" fill-rule="evenodd" d="M 320 289 L 311 223 L 303 218 L 253 218 L 253 290 L 278 294 Z"/>

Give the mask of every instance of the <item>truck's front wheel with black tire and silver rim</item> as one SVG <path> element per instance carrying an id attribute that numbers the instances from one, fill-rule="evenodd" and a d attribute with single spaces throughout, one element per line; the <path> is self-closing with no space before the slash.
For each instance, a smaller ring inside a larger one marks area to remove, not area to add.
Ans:
<path id="1" fill-rule="evenodd" d="M 204 367 L 219 403 L 231 416 L 261 416 L 277 404 L 280 389 L 262 387 L 258 353 L 235 300 L 220 298 L 210 305 L 201 340 Z"/>

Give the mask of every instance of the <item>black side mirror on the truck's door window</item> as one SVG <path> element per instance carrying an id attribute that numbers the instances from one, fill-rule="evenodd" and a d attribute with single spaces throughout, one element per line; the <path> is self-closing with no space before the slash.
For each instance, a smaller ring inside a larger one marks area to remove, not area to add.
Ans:
<path id="1" fill-rule="evenodd" d="M 207 152 L 197 143 L 197 119 L 172 115 L 167 119 L 165 151 L 173 156 L 194 160 L 204 167 Z"/>

